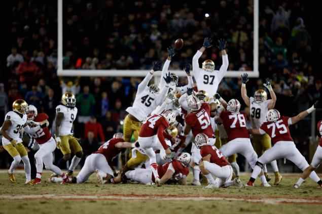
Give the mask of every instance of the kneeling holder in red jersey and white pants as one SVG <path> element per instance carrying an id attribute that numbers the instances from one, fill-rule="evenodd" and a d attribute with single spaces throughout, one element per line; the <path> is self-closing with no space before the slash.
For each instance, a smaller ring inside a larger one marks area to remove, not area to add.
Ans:
<path id="1" fill-rule="evenodd" d="M 209 181 L 209 185 L 205 188 L 230 187 L 232 185 L 244 188 L 244 185 L 239 178 L 235 178 L 231 181 L 233 176 L 232 167 L 216 146 L 209 145 L 207 135 L 203 133 L 198 134 L 195 138 L 195 145 L 200 149 L 202 157 L 199 162 L 199 168 Z M 212 176 L 217 177 L 216 181 Z"/>

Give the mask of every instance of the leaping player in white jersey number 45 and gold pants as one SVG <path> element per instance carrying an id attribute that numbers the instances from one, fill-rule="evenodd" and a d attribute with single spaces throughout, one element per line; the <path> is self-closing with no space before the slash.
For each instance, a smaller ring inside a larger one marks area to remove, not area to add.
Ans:
<path id="1" fill-rule="evenodd" d="M 134 139 L 137 140 L 142 122 L 153 109 L 162 103 L 168 92 L 169 82 L 171 81 L 170 75 L 168 74 L 164 77 L 166 84 L 161 88 L 161 92 L 157 84 L 151 84 L 148 87 L 153 73 L 160 70 L 160 68 L 161 62 L 158 61 L 141 83 L 139 83 L 133 105 L 126 109 L 128 115 L 126 115 L 123 125 L 123 135 L 126 142 L 130 142 L 132 134 L 134 135 Z"/>

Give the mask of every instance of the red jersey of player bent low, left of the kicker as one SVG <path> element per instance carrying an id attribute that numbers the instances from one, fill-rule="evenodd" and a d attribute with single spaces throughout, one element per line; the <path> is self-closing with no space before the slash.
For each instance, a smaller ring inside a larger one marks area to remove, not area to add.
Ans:
<path id="1" fill-rule="evenodd" d="M 115 144 L 119 142 L 124 142 L 124 140 L 120 138 L 112 138 L 108 142 L 105 142 L 103 145 L 101 145 L 99 149 L 93 153 L 104 155 L 109 165 L 112 166 L 112 159 L 121 152 L 121 149 L 115 147 Z"/>

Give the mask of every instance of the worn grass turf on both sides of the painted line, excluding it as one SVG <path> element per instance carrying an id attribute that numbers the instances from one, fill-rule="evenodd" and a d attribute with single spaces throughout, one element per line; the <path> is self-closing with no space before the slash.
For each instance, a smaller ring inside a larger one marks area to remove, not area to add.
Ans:
<path id="1" fill-rule="evenodd" d="M 44 173 L 43 178 L 48 178 L 49 173 Z M 272 176 L 273 177 L 273 176 Z M 242 182 L 247 182 L 248 176 L 242 176 Z M 316 198 L 322 201 L 321 189 L 310 179 L 301 186 L 294 189 L 293 184 L 297 176 L 284 176 L 278 186 L 272 188 L 258 187 L 260 182 L 256 181 L 256 187 L 238 189 L 230 187 L 227 189 L 203 189 L 198 186 L 175 186 L 163 185 L 162 187 L 135 185 L 135 184 L 96 184 L 96 177 L 92 175 L 90 180 L 84 184 L 47 184 L 30 186 L 24 185 L 24 175 L 16 174 L 17 183 L 11 184 L 7 174 L 0 174 L 0 188 L 2 195 L 38 195 L 38 194 L 164 194 L 164 195 L 220 195 L 227 200 L 221 201 L 160 201 L 160 200 L 32 200 L 32 201 L 0 201 L 0 213 L 97 213 L 109 210 L 109 213 L 204 213 L 211 212 L 262 212 L 262 213 L 322 213 L 321 205 L 315 204 L 263 204 L 242 201 L 230 201 L 229 197 L 299 197 Z M 191 175 L 188 182 L 191 182 Z M 183 207 L 183 208 L 181 208 Z"/>

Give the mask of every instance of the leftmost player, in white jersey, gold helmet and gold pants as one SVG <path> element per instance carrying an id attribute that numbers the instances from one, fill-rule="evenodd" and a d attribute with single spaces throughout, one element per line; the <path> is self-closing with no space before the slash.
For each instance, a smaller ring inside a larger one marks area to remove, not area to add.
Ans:
<path id="1" fill-rule="evenodd" d="M 2 145 L 5 150 L 8 151 L 13 161 L 10 165 L 8 175 L 11 183 L 16 183 L 16 178 L 14 176 L 14 169 L 18 166 L 20 161 L 23 161 L 24 170 L 26 173 L 26 182 L 29 184 L 31 182 L 31 167 L 28 158 L 27 151 L 22 144 L 22 139 L 20 138 L 21 129 L 23 128 L 27 133 L 29 131 L 32 133 L 33 129 L 27 125 L 27 115 L 26 111 L 28 104 L 22 99 L 18 99 L 12 104 L 13 111 L 9 111 L 5 116 L 5 121 L 1 128 Z"/>

